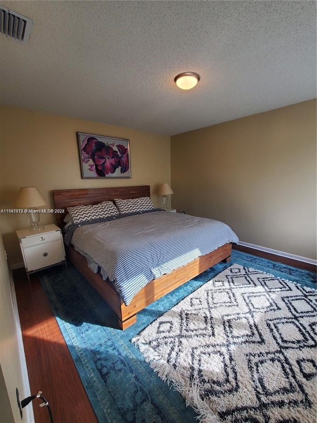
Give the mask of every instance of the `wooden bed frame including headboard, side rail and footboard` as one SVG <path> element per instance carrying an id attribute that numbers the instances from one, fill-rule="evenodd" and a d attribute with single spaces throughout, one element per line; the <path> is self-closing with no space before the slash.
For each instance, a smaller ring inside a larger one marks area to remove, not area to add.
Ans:
<path id="1" fill-rule="evenodd" d="M 114 198 L 125 199 L 146 196 L 150 196 L 149 185 L 54 190 L 55 208 L 64 210 L 63 213 L 56 215 L 57 225 L 60 228 L 65 225 L 63 219 L 67 214 L 67 207 L 70 206 L 98 204 L 102 201 L 113 200 Z M 90 270 L 85 257 L 72 246 L 66 247 L 66 251 L 68 259 L 115 311 L 118 316 L 119 327 L 124 330 L 136 322 L 136 313 L 147 305 L 183 285 L 185 282 L 188 282 L 220 261 L 228 262 L 231 258 L 231 243 L 222 245 L 211 253 L 198 257 L 187 265 L 149 282 L 135 295 L 129 305 L 124 304 L 113 284 L 108 279 L 104 281 L 100 273 L 94 273 Z"/>

